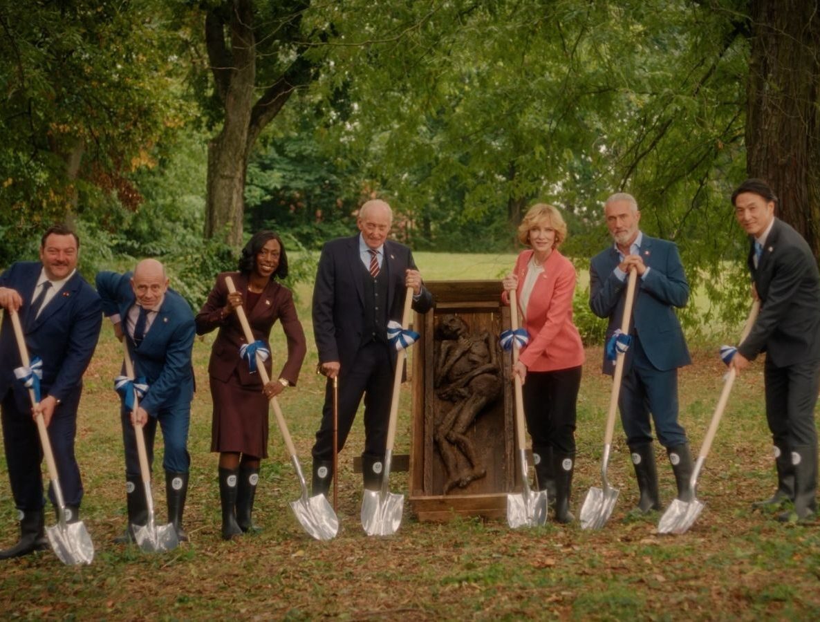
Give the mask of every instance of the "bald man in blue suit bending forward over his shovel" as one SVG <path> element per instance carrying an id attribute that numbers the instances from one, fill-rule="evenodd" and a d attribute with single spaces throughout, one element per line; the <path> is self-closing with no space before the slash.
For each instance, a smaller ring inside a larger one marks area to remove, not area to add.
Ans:
<path id="1" fill-rule="evenodd" d="M 115 334 L 128 339 L 134 374 L 148 384 L 136 412 L 129 412 L 125 404 L 121 408 L 128 529 L 117 541 L 133 541 L 131 525 L 143 525 L 148 520 L 134 425 L 143 427 L 148 461 L 153 463 L 157 421 L 165 441 L 162 465 L 168 522 L 174 525 L 180 540 L 187 540 L 182 514 L 191 462 L 188 429 L 194 397 L 194 313 L 185 298 L 168 288 L 165 268 L 155 259 L 140 261 L 133 275 L 100 272 L 97 291 L 103 298 L 103 312 L 114 323 Z"/>

